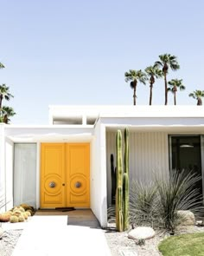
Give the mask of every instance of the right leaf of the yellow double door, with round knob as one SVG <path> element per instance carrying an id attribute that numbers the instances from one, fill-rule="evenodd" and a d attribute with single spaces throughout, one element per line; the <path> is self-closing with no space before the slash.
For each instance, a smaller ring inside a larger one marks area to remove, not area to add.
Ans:
<path id="1" fill-rule="evenodd" d="M 67 143 L 67 206 L 90 207 L 90 148 L 88 143 Z"/>

